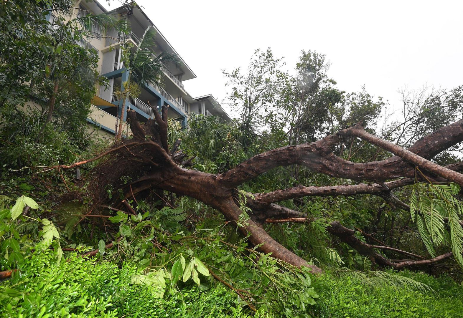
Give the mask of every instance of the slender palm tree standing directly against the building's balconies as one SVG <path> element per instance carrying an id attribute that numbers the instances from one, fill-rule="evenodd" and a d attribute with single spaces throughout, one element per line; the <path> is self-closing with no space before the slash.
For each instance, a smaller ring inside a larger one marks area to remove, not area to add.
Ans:
<path id="1" fill-rule="evenodd" d="M 124 110 L 127 97 L 131 90 L 138 91 L 138 84 L 152 83 L 158 87 L 163 87 L 161 75 L 163 74 L 164 63 L 180 64 L 180 59 L 176 54 L 163 51 L 155 56 L 151 49 L 156 46 L 156 30 L 149 26 L 138 44 L 133 50 L 131 44 L 125 44 L 122 48 L 122 61 L 125 63 L 128 72 L 127 81 L 122 83 L 123 90 L 120 92 L 122 97 L 122 111 L 119 115 L 119 128 L 116 133 L 116 142 L 121 139 L 122 125 L 124 120 Z"/>

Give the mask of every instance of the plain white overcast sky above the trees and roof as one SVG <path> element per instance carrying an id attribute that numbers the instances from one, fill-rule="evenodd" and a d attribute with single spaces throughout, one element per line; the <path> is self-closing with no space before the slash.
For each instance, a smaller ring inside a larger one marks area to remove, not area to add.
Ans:
<path id="1" fill-rule="evenodd" d="M 101 1 L 103 2 L 103 1 Z M 220 69 L 246 67 L 271 47 L 293 71 L 301 50 L 331 62 L 329 76 L 398 106 L 398 89 L 463 84 L 463 1 L 152 1 L 137 3 L 197 75 L 193 96 L 225 97 Z M 112 1 L 111 8 L 119 4 Z M 222 105 L 229 111 L 227 105 Z"/>

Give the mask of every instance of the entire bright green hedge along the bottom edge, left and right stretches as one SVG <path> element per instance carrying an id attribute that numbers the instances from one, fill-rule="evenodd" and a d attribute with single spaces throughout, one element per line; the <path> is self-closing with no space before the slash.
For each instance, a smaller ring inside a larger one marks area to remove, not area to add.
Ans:
<path id="1" fill-rule="evenodd" d="M 133 277 L 142 271 L 133 262 L 118 266 L 84 260 L 76 253 L 66 257 L 59 264 L 53 251 L 28 257 L 27 267 L 0 286 L 1 317 L 284 316 L 264 309 L 252 314 L 236 293 L 218 282 L 169 287 L 159 299 L 156 287 L 134 283 Z M 463 293 L 454 281 L 422 273 L 400 275 L 431 290 L 397 287 L 387 281 L 375 285 L 355 273 L 328 271 L 313 277 L 320 294 L 316 304 L 290 317 L 463 317 Z"/>

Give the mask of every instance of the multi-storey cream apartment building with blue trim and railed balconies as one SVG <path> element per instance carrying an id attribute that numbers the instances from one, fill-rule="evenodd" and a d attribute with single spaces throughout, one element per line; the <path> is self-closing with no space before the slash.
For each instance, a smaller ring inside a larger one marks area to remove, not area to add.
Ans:
<path id="1" fill-rule="evenodd" d="M 109 79 L 109 87 L 97 87 L 97 95 L 92 100 L 93 112 L 88 118 L 89 123 L 97 125 L 107 133 L 114 133 L 118 115 L 122 113 L 122 118 L 125 120 L 127 109 L 137 112 L 141 121 L 153 118 L 154 114 L 150 105 L 159 106 L 159 108 L 163 105 L 169 106 L 169 118 L 178 119 L 182 126 L 187 124 L 188 116 L 194 113 L 218 116 L 226 122 L 231 122 L 231 118 L 211 94 L 196 98 L 188 94 L 183 82 L 196 78 L 196 75 L 140 7 L 137 5 L 121 6 L 108 12 L 95 0 L 80 0 L 75 6 L 80 9 L 76 9 L 76 14 L 85 14 L 85 12 L 121 14 L 131 29 L 128 34 L 117 34 L 110 30 L 107 34 L 110 37 L 86 38 L 80 43 L 98 53 L 98 70 L 101 75 Z M 141 93 L 138 96 L 130 95 L 126 101 L 126 109 L 122 109 L 120 97 L 114 94 L 116 90 L 120 90 L 122 83 L 128 77 L 124 62 L 121 62 L 120 43 L 130 42 L 136 47 L 149 26 L 156 29 L 156 46 L 151 48 L 153 54 L 158 55 L 163 51 L 175 53 L 181 63 L 179 66 L 165 65 L 161 78 L 163 87 L 158 87 L 154 83 L 140 85 Z"/>

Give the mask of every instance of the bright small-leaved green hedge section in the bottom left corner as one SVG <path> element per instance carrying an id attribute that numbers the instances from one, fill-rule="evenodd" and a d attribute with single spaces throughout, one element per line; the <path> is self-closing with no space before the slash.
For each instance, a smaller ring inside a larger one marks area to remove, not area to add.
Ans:
<path id="1" fill-rule="evenodd" d="M 136 265 L 83 259 L 56 262 L 53 251 L 26 258 L 23 271 L 0 285 L 1 317 L 251 317 L 223 285 L 169 288 L 163 299 L 149 285 L 131 284 Z M 269 317 L 257 313 L 254 317 Z"/>

